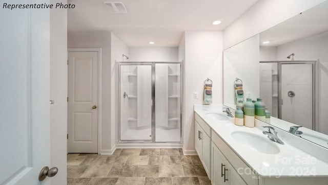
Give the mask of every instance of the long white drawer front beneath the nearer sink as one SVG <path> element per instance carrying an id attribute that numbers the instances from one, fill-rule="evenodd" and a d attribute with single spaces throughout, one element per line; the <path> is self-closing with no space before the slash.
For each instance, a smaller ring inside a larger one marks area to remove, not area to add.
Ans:
<path id="1" fill-rule="evenodd" d="M 247 184 L 258 184 L 258 175 L 255 173 L 249 174 L 251 168 L 213 130 L 212 141 Z"/>

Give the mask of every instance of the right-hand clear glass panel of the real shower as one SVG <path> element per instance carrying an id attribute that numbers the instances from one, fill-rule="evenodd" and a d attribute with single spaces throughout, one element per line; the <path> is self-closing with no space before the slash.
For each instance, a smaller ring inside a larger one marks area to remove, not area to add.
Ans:
<path id="1" fill-rule="evenodd" d="M 181 64 L 155 64 L 155 142 L 181 142 Z"/>

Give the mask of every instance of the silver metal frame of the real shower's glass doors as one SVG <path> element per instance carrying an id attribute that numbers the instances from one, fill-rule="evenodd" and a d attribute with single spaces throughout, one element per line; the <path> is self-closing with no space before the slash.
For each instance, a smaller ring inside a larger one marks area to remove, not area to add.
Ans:
<path id="1" fill-rule="evenodd" d="M 180 64 L 180 141 L 179 142 L 156 142 L 155 141 L 155 135 L 156 135 L 156 125 L 155 125 L 155 65 L 157 63 L 160 64 Z M 120 119 L 120 109 L 121 109 L 121 91 L 120 91 L 120 81 L 121 81 L 121 75 L 120 75 L 120 66 L 121 65 L 151 65 L 151 89 L 152 89 L 152 112 L 151 112 L 151 140 L 121 140 L 121 133 L 120 133 L 120 126 L 121 126 L 121 119 Z M 125 62 L 125 61 L 116 61 L 116 89 L 117 89 L 117 127 L 116 127 L 116 133 L 117 133 L 117 144 L 122 143 L 171 143 L 171 144 L 181 144 L 182 143 L 182 100 L 183 100 L 183 62 Z"/>

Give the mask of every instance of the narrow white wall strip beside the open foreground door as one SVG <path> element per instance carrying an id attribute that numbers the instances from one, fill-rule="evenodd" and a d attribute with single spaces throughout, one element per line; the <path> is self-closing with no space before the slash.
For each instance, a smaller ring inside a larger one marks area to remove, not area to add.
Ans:
<path id="1" fill-rule="evenodd" d="M 67 78 L 67 10 L 50 9 L 50 168 L 59 169 L 51 184 L 67 183 Z"/>

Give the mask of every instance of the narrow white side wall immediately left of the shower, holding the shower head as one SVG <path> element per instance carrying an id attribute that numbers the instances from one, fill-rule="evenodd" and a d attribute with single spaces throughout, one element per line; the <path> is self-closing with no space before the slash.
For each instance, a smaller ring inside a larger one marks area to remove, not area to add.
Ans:
<path id="1" fill-rule="evenodd" d="M 129 48 L 128 46 L 122 42 L 119 38 L 117 38 L 113 33 L 111 33 L 111 151 L 110 153 L 114 152 L 115 150 L 115 143 L 117 138 L 117 130 L 116 126 L 118 123 L 117 118 L 117 107 L 118 107 L 118 100 L 117 96 L 117 74 L 116 74 L 116 62 L 121 61 L 122 55 L 125 54 L 129 56 Z"/>

